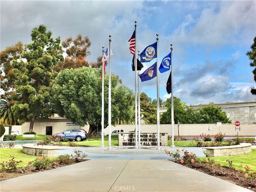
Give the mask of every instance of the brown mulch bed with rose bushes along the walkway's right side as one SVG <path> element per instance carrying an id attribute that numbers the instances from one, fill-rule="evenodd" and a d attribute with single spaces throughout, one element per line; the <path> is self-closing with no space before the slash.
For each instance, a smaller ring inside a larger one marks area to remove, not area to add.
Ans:
<path id="1" fill-rule="evenodd" d="M 256 191 L 256 179 L 253 180 L 253 183 L 249 179 L 245 179 L 244 171 L 231 169 L 230 167 L 226 166 L 221 166 L 216 169 L 216 167 L 211 167 L 209 164 L 201 162 L 195 162 L 193 164 L 179 164 L 209 175 L 213 175 L 214 177 L 229 181 L 235 185 L 250 189 L 252 191 Z M 256 174 L 256 172 L 254 174 Z"/>

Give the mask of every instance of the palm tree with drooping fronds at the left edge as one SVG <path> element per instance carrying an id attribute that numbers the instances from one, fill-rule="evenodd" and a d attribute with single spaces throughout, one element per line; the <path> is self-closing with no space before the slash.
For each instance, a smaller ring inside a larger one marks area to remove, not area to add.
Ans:
<path id="1" fill-rule="evenodd" d="M 10 97 L 0 99 L 0 123 L 3 125 L 18 125 L 18 118 L 12 111 L 14 101 Z"/>

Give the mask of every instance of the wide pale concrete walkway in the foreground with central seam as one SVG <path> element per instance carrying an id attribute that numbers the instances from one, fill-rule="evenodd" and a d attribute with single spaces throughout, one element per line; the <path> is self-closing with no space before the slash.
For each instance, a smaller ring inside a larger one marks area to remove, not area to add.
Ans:
<path id="1" fill-rule="evenodd" d="M 250 191 L 166 159 L 99 160 L 1 182 L 1 192 Z"/>

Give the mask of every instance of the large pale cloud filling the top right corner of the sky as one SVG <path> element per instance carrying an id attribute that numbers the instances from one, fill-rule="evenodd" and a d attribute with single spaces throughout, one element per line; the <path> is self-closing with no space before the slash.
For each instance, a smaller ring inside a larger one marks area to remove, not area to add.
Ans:
<path id="1" fill-rule="evenodd" d="M 255 1 L 222 1 L 216 10 L 215 6 L 205 8 L 194 26 L 189 25 L 192 19 L 185 19 L 171 36 L 183 44 L 214 46 L 251 41 L 256 31 Z"/>

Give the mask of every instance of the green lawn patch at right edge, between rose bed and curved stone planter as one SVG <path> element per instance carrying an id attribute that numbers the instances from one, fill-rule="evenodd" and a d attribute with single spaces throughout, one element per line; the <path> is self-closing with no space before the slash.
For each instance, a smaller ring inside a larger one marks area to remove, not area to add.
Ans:
<path id="1" fill-rule="evenodd" d="M 244 170 L 241 167 L 249 165 L 253 172 L 256 172 L 256 149 L 252 149 L 251 153 L 243 154 L 243 155 L 231 155 L 227 157 L 210 157 L 216 163 L 220 163 L 221 165 L 228 166 L 227 160 L 232 161 L 233 165 L 236 169 Z M 206 158 L 199 158 L 201 161 L 204 161 Z"/>

